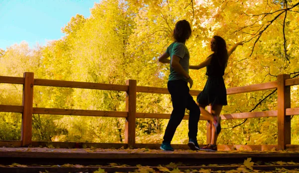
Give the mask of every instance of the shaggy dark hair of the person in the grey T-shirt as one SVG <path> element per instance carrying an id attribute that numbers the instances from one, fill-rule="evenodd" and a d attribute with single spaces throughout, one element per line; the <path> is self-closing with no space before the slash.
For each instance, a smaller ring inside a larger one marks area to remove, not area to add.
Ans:
<path id="1" fill-rule="evenodd" d="M 173 38 L 178 42 L 185 42 L 191 36 L 191 26 L 187 20 L 179 20 L 173 29 Z"/>

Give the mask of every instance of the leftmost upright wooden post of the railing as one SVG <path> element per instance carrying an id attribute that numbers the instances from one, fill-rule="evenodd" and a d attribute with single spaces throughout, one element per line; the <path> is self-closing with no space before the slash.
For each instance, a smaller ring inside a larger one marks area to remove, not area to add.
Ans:
<path id="1" fill-rule="evenodd" d="M 33 107 L 33 84 L 34 73 L 24 73 L 23 85 L 23 114 L 21 125 L 21 141 L 22 146 L 29 146 L 32 143 L 32 107 Z"/>

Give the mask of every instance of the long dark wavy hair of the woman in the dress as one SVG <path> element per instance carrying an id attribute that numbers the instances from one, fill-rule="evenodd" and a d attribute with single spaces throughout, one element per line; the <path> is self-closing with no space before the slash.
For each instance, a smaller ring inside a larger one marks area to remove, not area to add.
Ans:
<path id="1" fill-rule="evenodd" d="M 220 66 L 226 67 L 227 61 L 228 61 L 226 42 L 221 36 L 218 36 L 218 35 L 213 36 L 213 38 L 216 40 L 215 55 L 218 58 L 218 62 L 220 64 Z"/>

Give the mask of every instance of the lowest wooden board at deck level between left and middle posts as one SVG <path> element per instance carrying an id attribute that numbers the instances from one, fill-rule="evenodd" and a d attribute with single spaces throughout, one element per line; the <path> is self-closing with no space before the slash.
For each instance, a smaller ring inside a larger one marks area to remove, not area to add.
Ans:
<path id="1" fill-rule="evenodd" d="M 80 148 L 97 148 L 97 149 L 127 149 L 128 144 L 121 143 L 75 143 L 75 142 L 45 142 L 45 141 L 32 141 L 33 147 L 48 147 L 60 149 L 80 149 Z"/>

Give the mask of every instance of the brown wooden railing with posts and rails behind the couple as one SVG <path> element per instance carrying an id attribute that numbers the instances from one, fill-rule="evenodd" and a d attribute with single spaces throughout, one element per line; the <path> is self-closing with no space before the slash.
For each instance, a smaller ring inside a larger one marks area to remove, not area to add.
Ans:
<path id="1" fill-rule="evenodd" d="M 17 143 L 18 141 L 17 142 L 2 141 L 1 143 L 0 141 L 0 146 L 7 146 L 7 144 L 9 143 L 13 143 L 14 147 L 21 147 L 21 146 L 24 147 L 30 145 L 38 146 L 42 142 L 32 141 L 32 114 L 52 114 L 52 115 L 126 118 L 125 144 L 102 144 L 100 146 L 102 148 L 111 148 L 111 146 L 144 148 L 145 144 L 136 144 L 135 142 L 136 118 L 169 119 L 170 117 L 170 114 L 136 112 L 137 92 L 169 94 L 167 88 L 137 86 L 136 80 L 127 80 L 126 85 L 114 85 L 114 84 L 102 84 L 102 83 L 90 83 L 90 82 L 34 79 L 33 73 L 25 72 L 23 77 L 0 76 L 0 83 L 23 85 L 22 106 L 0 105 L 0 112 L 22 113 L 21 141 L 19 141 L 20 143 Z M 293 149 L 295 148 L 297 150 L 299 149 L 298 146 L 291 145 L 291 115 L 299 115 L 299 108 L 291 108 L 290 86 L 292 85 L 299 85 L 299 78 L 290 79 L 290 75 L 281 74 L 278 75 L 277 81 L 274 82 L 228 88 L 227 94 L 238 94 L 238 93 L 246 93 L 246 92 L 277 88 L 278 89 L 277 90 L 278 110 L 224 114 L 221 115 L 221 118 L 222 120 L 230 120 L 230 119 L 259 118 L 259 117 L 278 117 L 278 145 L 276 146 L 277 149 L 284 150 L 286 149 L 286 147 L 288 147 Z M 126 111 L 120 112 L 120 111 L 74 110 L 74 109 L 33 107 L 34 86 L 52 86 L 52 87 L 125 91 Z M 190 90 L 190 94 L 192 96 L 197 96 L 199 93 L 200 91 Z M 188 119 L 188 115 L 185 115 L 184 120 L 187 119 Z M 200 120 L 206 120 L 206 119 L 200 117 Z M 209 143 L 211 139 L 211 129 L 212 129 L 211 122 L 208 122 L 207 123 L 207 143 Z M 93 143 L 93 144 L 99 144 L 99 143 Z M 66 144 L 60 143 L 60 146 L 66 146 Z M 150 146 L 150 144 L 147 144 L 147 147 L 148 146 Z M 155 148 L 156 146 L 157 145 L 155 145 Z"/>

